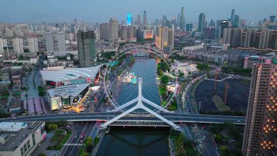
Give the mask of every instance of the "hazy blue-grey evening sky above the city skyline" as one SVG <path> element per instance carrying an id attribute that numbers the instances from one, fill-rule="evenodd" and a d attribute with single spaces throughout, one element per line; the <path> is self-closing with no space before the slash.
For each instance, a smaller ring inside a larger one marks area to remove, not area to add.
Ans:
<path id="1" fill-rule="evenodd" d="M 143 17 L 147 22 L 167 15 L 170 19 L 185 9 L 186 22 L 197 22 L 201 12 L 206 20 L 230 18 L 235 9 L 241 19 L 258 22 L 270 15 L 277 15 L 276 0 L 1 0 L 0 21 L 11 23 L 31 22 L 108 22 L 111 17 L 126 20 L 127 13 L 134 18 Z"/>

